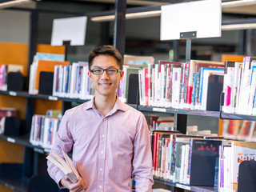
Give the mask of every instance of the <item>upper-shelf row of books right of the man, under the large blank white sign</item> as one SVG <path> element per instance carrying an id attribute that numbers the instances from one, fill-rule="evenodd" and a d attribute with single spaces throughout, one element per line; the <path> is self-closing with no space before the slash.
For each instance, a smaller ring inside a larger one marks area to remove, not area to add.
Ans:
<path id="1" fill-rule="evenodd" d="M 148 65 L 138 74 L 140 105 L 206 110 L 211 74 L 224 74 L 222 62 L 159 61 Z"/>

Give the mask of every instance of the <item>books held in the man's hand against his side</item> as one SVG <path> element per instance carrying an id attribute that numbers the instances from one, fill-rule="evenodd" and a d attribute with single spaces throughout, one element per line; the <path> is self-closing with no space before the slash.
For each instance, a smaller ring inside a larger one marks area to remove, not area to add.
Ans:
<path id="1" fill-rule="evenodd" d="M 78 174 L 78 170 L 74 166 L 74 162 L 70 159 L 70 157 L 65 153 L 62 149 L 62 154 L 64 155 L 65 160 L 57 154 L 55 151 L 52 151 L 46 158 L 54 163 L 55 166 L 58 166 L 64 174 L 70 179 L 71 182 L 78 182 L 80 175 Z"/>

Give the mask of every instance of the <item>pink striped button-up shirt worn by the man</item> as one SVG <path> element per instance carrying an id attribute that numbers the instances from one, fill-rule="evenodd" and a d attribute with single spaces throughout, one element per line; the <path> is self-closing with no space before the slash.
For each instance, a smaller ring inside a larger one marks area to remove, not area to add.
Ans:
<path id="1" fill-rule="evenodd" d="M 67 110 L 53 150 L 62 154 L 73 146 L 73 161 L 87 186 L 86 192 L 128 192 L 134 177 L 136 191 L 152 191 L 150 135 L 144 115 L 119 98 L 106 117 L 95 109 L 94 99 Z M 55 182 L 65 175 L 51 162 Z"/>

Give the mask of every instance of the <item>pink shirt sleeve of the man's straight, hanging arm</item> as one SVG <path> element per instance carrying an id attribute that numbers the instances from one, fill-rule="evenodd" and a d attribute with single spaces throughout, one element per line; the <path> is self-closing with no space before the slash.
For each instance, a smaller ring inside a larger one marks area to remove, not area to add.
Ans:
<path id="1" fill-rule="evenodd" d="M 137 134 L 134 138 L 133 168 L 136 192 L 151 192 L 154 180 L 150 134 L 143 114 L 138 120 Z"/>

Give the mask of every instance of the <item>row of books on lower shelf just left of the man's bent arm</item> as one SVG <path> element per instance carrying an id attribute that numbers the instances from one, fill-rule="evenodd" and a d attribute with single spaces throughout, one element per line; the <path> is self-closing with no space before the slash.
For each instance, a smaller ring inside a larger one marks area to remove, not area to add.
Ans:
<path id="1" fill-rule="evenodd" d="M 55 140 L 58 126 L 61 121 L 61 111 L 47 112 L 56 116 L 34 114 L 30 130 L 30 143 L 34 146 L 42 146 L 50 149 Z"/>

